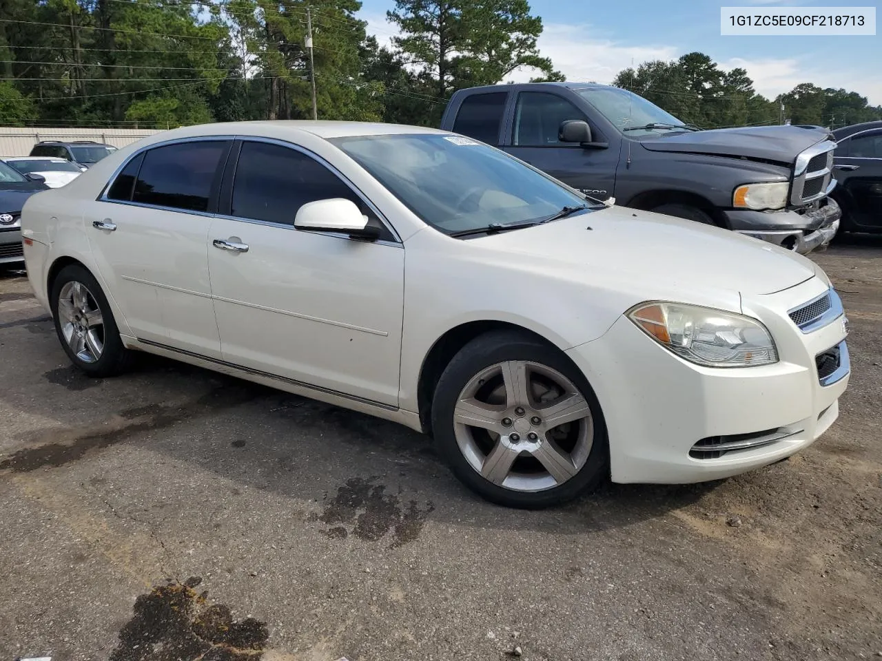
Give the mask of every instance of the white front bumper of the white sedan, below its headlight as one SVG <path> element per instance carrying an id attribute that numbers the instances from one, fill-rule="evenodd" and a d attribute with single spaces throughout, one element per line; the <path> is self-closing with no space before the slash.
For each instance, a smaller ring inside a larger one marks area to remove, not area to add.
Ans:
<path id="1" fill-rule="evenodd" d="M 803 333 L 787 311 L 826 290 L 812 278 L 781 293 L 744 298 L 744 314 L 773 335 L 774 365 L 703 368 L 656 344 L 624 316 L 602 338 L 570 349 L 602 406 L 613 481 L 722 479 L 811 445 L 836 420 L 848 385 L 844 316 Z M 821 385 L 816 357 L 837 346 L 843 347 L 841 366 L 833 382 Z M 708 452 L 702 449 L 708 442 L 747 447 Z"/>

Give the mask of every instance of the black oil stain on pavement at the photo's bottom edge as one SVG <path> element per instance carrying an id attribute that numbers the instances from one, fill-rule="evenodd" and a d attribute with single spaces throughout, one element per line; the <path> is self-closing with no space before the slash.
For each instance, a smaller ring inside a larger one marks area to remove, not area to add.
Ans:
<path id="1" fill-rule="evenodd" d="M 110 661 L 255 661 L 269 631 L 254 618 L 234 620 L 226 605 L 209 605 L 198 576 L 169 581 L 135 600 Z"/>

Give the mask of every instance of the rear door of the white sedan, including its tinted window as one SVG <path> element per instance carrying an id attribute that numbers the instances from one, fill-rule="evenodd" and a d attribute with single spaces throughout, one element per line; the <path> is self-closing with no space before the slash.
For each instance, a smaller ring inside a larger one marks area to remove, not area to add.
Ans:
<path id="1" fill-rule="evenodd" d="M 206 241 L 230 144 L 195 140 L 142 152 L 86 204 L 99 275 L 138 339 L 220 358 Z"/>

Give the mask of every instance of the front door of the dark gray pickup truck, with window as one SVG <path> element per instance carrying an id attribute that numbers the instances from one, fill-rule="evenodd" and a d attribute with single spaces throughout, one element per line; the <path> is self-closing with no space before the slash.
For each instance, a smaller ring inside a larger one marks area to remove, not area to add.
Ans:
<path id="1" fill-rule="evenodd" d="M 569 119 L 587 122 L 594 141 L 606 139 L 599 135 L 596 124 L 563 96 L 520 92 L 515 101 L 512 137 L 504 149 L 587 195 L 598 199 L 614 195 L 619 141 L 610 140 L 609 149 L 562 143 L 557 139 L 557 130 Z"/>

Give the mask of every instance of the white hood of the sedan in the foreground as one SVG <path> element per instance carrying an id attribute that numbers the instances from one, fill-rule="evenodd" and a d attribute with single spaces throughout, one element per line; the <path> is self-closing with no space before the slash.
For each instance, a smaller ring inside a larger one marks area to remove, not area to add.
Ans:
<path id="1" fill-rule="evenodd" d="M 803 256 L 766 241 L 659 213 L 612 207 L 481 241 L 532 268 L 595 286 L 675 297 L 704 290 L 774 293 L 815 274 Z"/>

